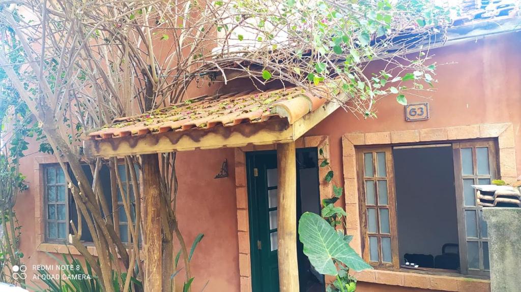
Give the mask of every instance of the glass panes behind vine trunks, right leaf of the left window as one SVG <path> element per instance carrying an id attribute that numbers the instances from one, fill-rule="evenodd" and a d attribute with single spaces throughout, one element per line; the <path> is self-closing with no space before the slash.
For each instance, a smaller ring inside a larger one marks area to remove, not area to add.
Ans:
<path id="1" fill-rule="evenodd" d="M 138 180 L 139 187 L 139 170 L 138 166 L 135 166 L 135 174 Z M 134 188 L 132 186 L 132 178 L 130 175 L 130 168 L 127 164 L 118 164 L 118 175 L 121 181 L 117 181 L 118 187 L 118 205 L 117 205 L 117 214 L 118 214 L 118 228 L 119 228 L 119 236 L 121 238 L 121 242 L 129 243 L 131 242 L 131 231 L 129 227 L 129 221 L 132 221 L 132 224 L 135 224 L 135 196 L 134 196 Z M 125 200 L 123 200 L 123 196 Z M 128 208 L 130 210 L 130 214 L 132 215 L 129 220 L 127 216 L 127 212 L 125 211 L 125 202 L 128 204 Z"/>

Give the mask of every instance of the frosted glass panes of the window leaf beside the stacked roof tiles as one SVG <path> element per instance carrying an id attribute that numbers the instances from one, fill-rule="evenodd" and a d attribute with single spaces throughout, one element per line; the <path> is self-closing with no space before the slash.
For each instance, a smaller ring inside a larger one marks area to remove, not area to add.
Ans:
<path id="1" fill-rule="evenodd" d="M 486 274 L 489 268 L 487 224 L 483 220 L 481 207 L 476 203 L 474 184 L 490 184 L 495 178 L 495 145 L 492 141 L 457 143 L 461 172 L 457 182 L 461 187 L 459 212 L 463 222 L 458 222 L 460 230 L 460 256 L 462 270 L 469 274 Z"/>

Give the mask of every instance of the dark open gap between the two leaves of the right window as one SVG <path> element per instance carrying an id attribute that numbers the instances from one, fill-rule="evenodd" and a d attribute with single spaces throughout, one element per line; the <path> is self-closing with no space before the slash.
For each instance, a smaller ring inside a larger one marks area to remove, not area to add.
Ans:
<path id="1" fill-rule="evenodd" d="M 393 149 L 400 264 L 457 269 L 458 230 L 451 145 Z"/>

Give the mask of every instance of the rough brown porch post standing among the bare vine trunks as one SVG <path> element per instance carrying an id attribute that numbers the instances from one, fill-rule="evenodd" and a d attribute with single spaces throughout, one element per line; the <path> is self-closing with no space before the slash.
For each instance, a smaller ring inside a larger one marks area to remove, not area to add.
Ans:
<path id="1" fill-rule="evenodd" d="M 145 211 L 145 291 L 162 291 L 162 222 L 159 157 L 141 155 L 143 166 L 143 197 Z"/>

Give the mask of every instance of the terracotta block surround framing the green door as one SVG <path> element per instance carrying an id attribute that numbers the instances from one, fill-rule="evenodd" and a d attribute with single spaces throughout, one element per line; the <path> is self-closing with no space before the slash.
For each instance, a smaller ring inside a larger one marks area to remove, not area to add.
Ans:
<path id="1" fill-rule="evenodd" d="M 329 137 L 301 137 L 295 142 L 296 148 L 317 148 L 324 151 L 324 156 L 318 156 L 318 165 L 325 159 L 329 160 Z M 235 148 L 235 188 L 237 191 L 237 236 L 239 238 L 239 274 L 241 276 L 241 292 L 252 291 L 251 258 L 250 258 L 250 221 L 248 214 L 248 192 L 246 188 L 246 155 L 249 151 L 275 150 L 275 144 L 247 145 Z M 329 168 L 318 167 L 320 200 L 333 195 L 333 185 L 326 182 Z M 326 280 L 327 282 L 327 280 Z"/>

